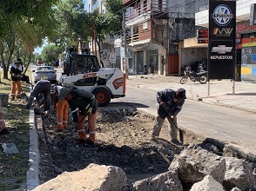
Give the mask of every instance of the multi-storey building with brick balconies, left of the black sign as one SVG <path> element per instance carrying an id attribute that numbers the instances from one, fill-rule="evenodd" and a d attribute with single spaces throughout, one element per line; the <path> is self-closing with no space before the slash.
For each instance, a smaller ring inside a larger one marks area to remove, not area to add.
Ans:
<path id="1" fill-rule="evenodd" d="M 126 0 L 125 27 L 133 74 L 180 75 L 183 65 L 204 58 L 205 46 L 193 47 L 185 39 L 196 37 L 195 12 L 205 1 Z M 189 44 L 189 45 L 187 45 Z M 201 49 L 202 48 L 202 49 Z M 204 54 L 201 54 L 204 52 Z"/>

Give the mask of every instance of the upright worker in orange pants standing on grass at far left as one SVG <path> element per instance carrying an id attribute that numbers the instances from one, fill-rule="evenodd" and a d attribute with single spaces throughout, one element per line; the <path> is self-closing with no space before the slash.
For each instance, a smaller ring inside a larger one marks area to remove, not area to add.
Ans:
<path id="1" fill-rule="evenodd" d="M 15 100 L 15 98 L 20 98 L 21 94 L 21 77 L 23 73 L 24 67 L 22 65 L 22 61 L 20 58 L 12 64 L 10 68 L 10 79 L 11 79 L 11 101 Z M 17 87 L 17 93 L 16 93 Z"/>

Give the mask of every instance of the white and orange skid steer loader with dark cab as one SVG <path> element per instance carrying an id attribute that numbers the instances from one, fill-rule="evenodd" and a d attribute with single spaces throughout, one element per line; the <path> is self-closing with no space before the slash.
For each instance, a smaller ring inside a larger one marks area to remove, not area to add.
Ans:
<path id="1" fill-rule="evenodd" d="M 64 74 L 59 79 L 62 86 L 73 85 L 95 95 L 100 107 L 107 106 L 111 99 L 125 96 L 125 73 L 118 68 L 100 66 L 98 57 L 88 49 L 81 49 L 82 41 L 77 41 L 77 49 L 66 50 Z"/>

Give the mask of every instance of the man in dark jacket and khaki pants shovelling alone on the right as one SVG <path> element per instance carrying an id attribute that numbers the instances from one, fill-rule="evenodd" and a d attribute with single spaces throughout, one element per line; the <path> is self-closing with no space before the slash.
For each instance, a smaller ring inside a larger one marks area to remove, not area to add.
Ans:
<path id="1" fill-rule="evenodd" d="M 165 89 L 157 92 L 158 115 L 153 128 L 153 139 L 159 136 L 165 118 L 167 117 L 171 126 L 171 142 L 180 144 L 177 138 L 177 115 L 182 109 L 185 98 L 185 89 L 182 88 L 176 91 L 173 89 Z M 172 122 L 174 122 L 176 126 Z"/>

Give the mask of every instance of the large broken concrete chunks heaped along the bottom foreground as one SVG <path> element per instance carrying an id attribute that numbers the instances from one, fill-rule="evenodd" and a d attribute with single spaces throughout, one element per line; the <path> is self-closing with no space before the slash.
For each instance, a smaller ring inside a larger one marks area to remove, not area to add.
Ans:
<path id="1" fill-rule="evenodd" d="M 127 184 L 123 169 L 93 164 L 77 172 L 64 172 L 44 182 L 39 190 L 201 190 L 246 191 L 255 188 L 252 164 L 235 157 L 224 157 L 191 144 L 172 161 L 168 171 Z"/>

